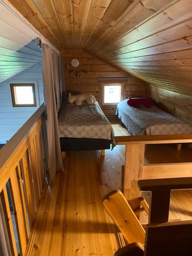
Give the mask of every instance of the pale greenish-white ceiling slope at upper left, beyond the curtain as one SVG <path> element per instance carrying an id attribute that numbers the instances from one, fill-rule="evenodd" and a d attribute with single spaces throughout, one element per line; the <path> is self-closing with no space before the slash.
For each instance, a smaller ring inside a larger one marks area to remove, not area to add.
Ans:
<path id="1" fill-rule="evenodd" d="M 41 62 L 41 50 L 33 41 L 38 36 L 0 2 L 0 84 Z"/>

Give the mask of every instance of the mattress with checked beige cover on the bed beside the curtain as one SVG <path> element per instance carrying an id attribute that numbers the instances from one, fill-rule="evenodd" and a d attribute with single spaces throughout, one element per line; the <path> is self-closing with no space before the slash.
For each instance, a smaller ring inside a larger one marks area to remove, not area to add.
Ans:
<path id="1" fill-rule="evenodd" d="M 67 103 L 58 117 L 59 136 L 113 140 L 112 125 L 103 114 L 98 102 L 77 106 Z"/>

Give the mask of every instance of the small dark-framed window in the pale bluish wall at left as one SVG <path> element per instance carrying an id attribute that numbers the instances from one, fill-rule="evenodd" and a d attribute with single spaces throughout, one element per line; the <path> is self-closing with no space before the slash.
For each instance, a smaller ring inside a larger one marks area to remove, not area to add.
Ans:
<path id="1" fill-rule="evenodd" d="M 34 83 L 11 83 L 13 106 L 36 106 Z"/>

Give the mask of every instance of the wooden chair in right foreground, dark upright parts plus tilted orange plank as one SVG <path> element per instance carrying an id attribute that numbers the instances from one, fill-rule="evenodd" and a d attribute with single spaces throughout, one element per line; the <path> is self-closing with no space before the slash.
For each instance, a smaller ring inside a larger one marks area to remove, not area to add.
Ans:
<path id="1" fill-rule="evenodd" d="M 121 191 L 112 191 L 103 198 L 105 209 L 129 244 L 114 256 L 192 255 L 192 220 L 168 222 L 170 191 L 192 188 L 192 178 L 140 180 L 138 187 L 151 191 L 146 234 Z"/>

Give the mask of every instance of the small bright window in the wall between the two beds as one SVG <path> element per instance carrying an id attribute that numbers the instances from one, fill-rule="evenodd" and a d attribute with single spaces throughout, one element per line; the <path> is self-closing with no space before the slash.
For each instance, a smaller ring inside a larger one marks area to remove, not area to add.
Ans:
<path id="1" fill-rule="evenodd" d="M 103 83 L 102 89 L 102 104 L 118 104 L 122 100 L 121 83 Z"/>

